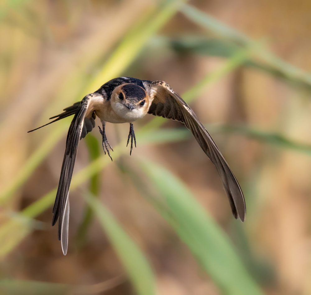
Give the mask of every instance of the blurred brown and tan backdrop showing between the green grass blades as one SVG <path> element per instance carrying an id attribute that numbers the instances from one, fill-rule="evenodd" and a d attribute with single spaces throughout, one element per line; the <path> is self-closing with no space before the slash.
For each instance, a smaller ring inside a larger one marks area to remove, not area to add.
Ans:
<path id="1" fill-rule="evenodd" d="M 50 116 L 68 106 L 63 104 L 62 97 L 71 95 L 71 91 L 64 88 L 69 77 L 78 68 L 94 74 L 96 68 L 89 65 L 95 57 L 109 56 L 127 29 L 155 3 L 141 0 L 30 1 L 25 11 L 10 11 L 2 20 L 1 187 L 16 175 L 44 134 L 52 129 L 49 125 L 33 134 L 26 131 L 44 124 Z M 210 0 L 191 1 L 190 4 L 254 39 L 265 38 L 272 52 L 299 68 L 310 69 L 311 2 Z M 176 36 L 202 32 L 202 28 L 178 13 L 159 34 Z M 165 80 L 175 91 L 183 93 L 223 62 L 220 58 L 174 51 L 148 56 L 143 51 L 123 75 Z M 309 92 L 291 87 L 267 73 L 240 68 L 203 91 L 191 106 L 203 123 L 245 123 L 311 144 L 309 97 Z M 141 124 L 137 122 L 134 127 Z M 180 127 L 174 122 L 167 126 Z M 112 145 L 118 142 L 116 134 L 125 138 L 127 133 L 127 124 L 107 126 L 107 137 Z M 97 129 L 93 134 L 100 139 Z M 135 161 L 136 155 L 144 155 L 179 176 L 242 252 L 239 231 L 243 227 L 252 259 L 262 265 L 262 272 L 258 272 L 256 279 L 267 294 L 310 294 L 310 156 L 239 135 L 215 134 L 213 138 L 245 192 L 248 214 L 243 225 L 233 221 L 217 172 L 194 139 L 148 147 L 138 143 L 130 161 Z M 64 147 L 65 137 L 9 206 L 2 208 L 4 215 L 7 210 L 26 207 L 58 184 Z M 81 141 L 75 171 L 87 163 L 86 146 Z M 220 294 L 187 247 L 138 194 L 116 164 L 113 162 L 101 173 L 101 200 L 148 256 L 156 272 L 159 294 Z M 57 228 L 50 226 L 50 208 L 38 218 L 44 222 L 44 230 L 34 231 L 2 260 L 3 277 L 95 284 L 123 273 L 97 220 L 91 226 L 85 246 L 76 249 L 74 235 L 85 202 L 81 189 L 71 191 L 70 198 L 71 235 L 67 256 L 61 252 Z M 107 294 L 133 292 L 126 281 Z"/>

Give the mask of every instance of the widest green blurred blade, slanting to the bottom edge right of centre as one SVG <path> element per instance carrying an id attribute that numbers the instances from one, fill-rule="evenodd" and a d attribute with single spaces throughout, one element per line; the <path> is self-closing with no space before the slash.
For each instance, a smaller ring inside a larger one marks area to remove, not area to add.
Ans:
<path id="1" fill-rule="evenodd" d="M 226 234 L 182 181 L 153 162 L 142 160 L 139 163 L 165 200 L 165 205 L 156 208 L 160 209 L 212 280 L 226 294 L 262 294 Z"/>

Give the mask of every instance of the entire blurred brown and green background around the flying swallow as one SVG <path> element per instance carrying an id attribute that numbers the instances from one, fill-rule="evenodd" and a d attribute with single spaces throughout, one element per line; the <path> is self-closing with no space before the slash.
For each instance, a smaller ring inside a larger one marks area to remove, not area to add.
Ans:
<path id="1" fill-rule="evenodd" d="M 4 0 L 0 21 L 1 294 L 311 294 L 311 2 Z M 191 133 L 147 115 L 131 157 L 128 124 L 107 124 L 113 162 L 97 127 L 81 140 L 63 255 L 72 117 L 27 131 L 119 76 L 190 104 L 244 223 Z"/>

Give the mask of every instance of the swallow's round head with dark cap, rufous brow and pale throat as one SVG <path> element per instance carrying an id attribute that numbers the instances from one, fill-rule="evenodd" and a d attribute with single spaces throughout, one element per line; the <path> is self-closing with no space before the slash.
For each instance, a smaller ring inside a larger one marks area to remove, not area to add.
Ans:
<path id="1" fill-rule="evenodd" d="M 111 106 L 120 117 L 135 121 L 148 112 L 149 99 L 142 87 L 135 84 L 122 84 L 111 95 Z"/>

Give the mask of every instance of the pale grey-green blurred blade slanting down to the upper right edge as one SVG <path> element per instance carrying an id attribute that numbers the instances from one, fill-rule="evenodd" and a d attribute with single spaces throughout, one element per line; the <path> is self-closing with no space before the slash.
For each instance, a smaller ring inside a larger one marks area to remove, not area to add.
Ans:
<path id="1" fill-rule="evenodd" d="M 250 44 L 254 42 L 251 38 L 238 30 L 216 20 L 212 16 L 191 5 L 185 4 L 180 10 L 186 17 L 188 17 L 188 19 L 225 40 L 233 41 L 242 46 L 250 46 Z M 296 68 L 265 49 L 258 51 L 256 56 L 258 56 L 261 62 L 266 63 L 266 69 L 270 72 L 274 72 L 278 76 L 298 83 L 304 87 L 311 87 L 311 74 L 300 68 Z"/>

